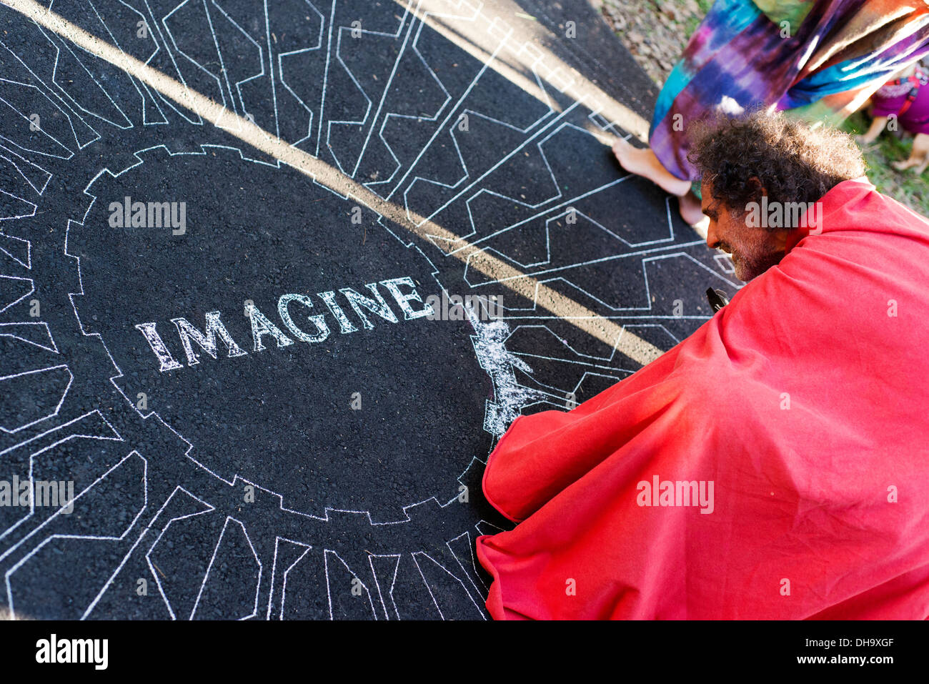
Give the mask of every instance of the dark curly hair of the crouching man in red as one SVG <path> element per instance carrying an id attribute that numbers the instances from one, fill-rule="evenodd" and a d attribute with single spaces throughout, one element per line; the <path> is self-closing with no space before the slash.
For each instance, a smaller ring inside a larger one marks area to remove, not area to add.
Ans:
<path id="1" fill-rule="evenodd" d="M 851 136 L 779 112 L 701 121 L 688 136 L 693 142 L 687 159 L 709 181 L 713 199 L 737 216 L 747 204 L 761 202 L 762 188 L 769 204 L 811 203 L 843 180 L 865 175 Z"/>

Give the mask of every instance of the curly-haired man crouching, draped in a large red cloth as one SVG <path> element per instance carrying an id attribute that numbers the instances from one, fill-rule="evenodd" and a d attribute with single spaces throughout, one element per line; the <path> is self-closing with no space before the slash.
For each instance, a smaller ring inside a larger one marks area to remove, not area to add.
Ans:
<path id="1" fill-rule="evenodd" d="M 926 618 L 929 222 L 874 190 L 851 138 L 780 114 L 704 131 L 691 158 L 707 243 L 750 282 L 635 375 L 517 418 L 484 475 L 519 523 L 478 538 L 488 609 Z"/>

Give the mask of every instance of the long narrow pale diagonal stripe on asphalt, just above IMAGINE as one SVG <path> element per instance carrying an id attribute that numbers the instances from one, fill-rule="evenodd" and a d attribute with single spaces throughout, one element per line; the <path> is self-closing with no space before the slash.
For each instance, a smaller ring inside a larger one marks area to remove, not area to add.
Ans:
<path id="1" fill-rule="evenodd" d="M 622 326 L 598 316 L 594 311 L 514 269 L 503 260 L 493 257 L 477 246 L 466 243 L 462 238 L 427 218 L 413 212 L 409 212 L 408 216 L 405 208 L 387 202 L 384 198 L 348 178 L 329 164 L 305 151 L 291 147 L 281 138 L 268 133 L 260 126 L 238 116 L 235 112 L 230 112 L 222 105 L 190 87 L 178 83 L 163 72 L 152 69 L 148 64 L 127 55 L 118 47 L 100 40 L 92 33 L 87 33 L 80 26 L 46 9 L 46 7 L 42 7 L 35 0 L 2 0 L 2 2 L 7 7 L 17 10 L 22 15 L 44 26 L 49 31 L 58 33 L 75 45 L 83 47 L 87 52 L 129 73 L 142 83 L 160 92 L 164 97 L 172 99 L 182 107 L 199 114 L 204 120 L 223 128 L 229 134 L 241 139 L 256 150 L 263 151 L 284 164 L 293 166 L 298 171 L 339 194 L 354 196 L 361 204 L 367 205 L 373 211 L 419 235 L 421 238 L 429 240 L 429 237 L 432 236 L 456 245 L 464 244 L 464 246 L 456 249 L 454 257 L 467 263 L 468 268 L 479 270 L 492 280 L 504 284 L 517 295 L 535 301 L 539 306 L 548 309 L 558 318 L 570 322 L 588 335 L 594 336 L 610 347 L 615 346 L 616 349 L 619 349 L 635 362 L 645 365 L 654 361 L 663 353 L 661 349 L 629 333 Z"/>

